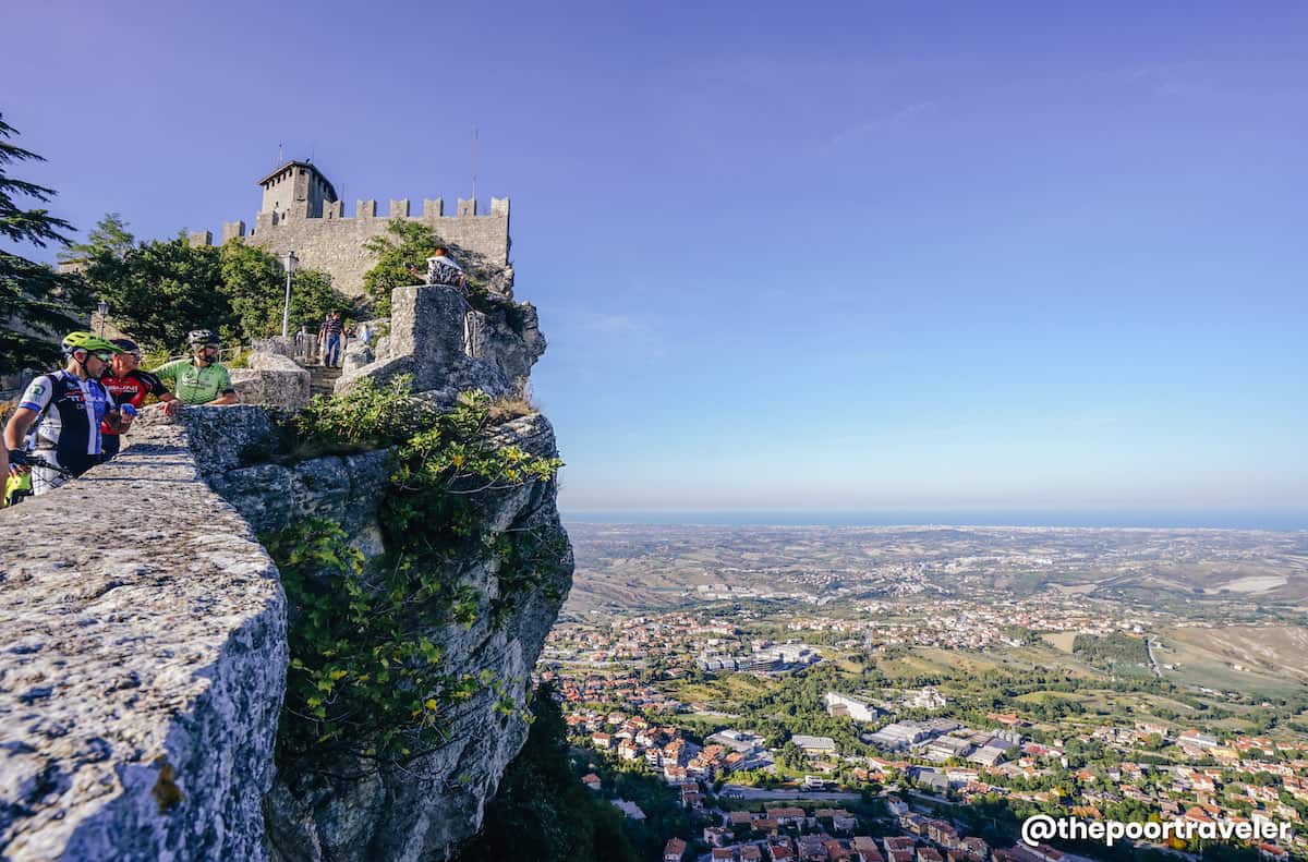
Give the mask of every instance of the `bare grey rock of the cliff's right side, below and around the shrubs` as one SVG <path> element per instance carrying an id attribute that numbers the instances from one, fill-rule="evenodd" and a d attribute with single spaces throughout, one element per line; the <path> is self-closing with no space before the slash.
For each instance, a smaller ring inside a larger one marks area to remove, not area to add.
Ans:
<path id="1" fill-rule="evenodd" d="M 540 415 L 502 425 L 501 445 L 517 443 L 534 455 L 552 457 L 553 430 Z M 555 484 L 536 483 L 504 492 L 494 501 L 490 526 L 536 530 L 566 539 L 555 508 Z M 522 708 L 531 668 L 545 634 L 572 586 L 572 551 L 521 596 L 502 628 L 479 612 L 473 625 L 433 627 L 422 633 L 442 649 L 445 662 L 470 674 L 487 670 L 509 684 Z M 485 603 L 500 596 L 496 573 L 468 561 L 458 582 L 481 591 Z M 378 769 L 371 761 L 340 760 L 317 774 L 284 776 L 267 801 L 268 838 L 284 859 L 445 859 L 476 833 L 487 801 L 504 768 L 522 748 L 527 723 L 519 713 L 494 709 L 497 695 L 484 691 L 449 714 L 450 742 L 403 767 Z M 354 776 L 354 777 L 351 777 Z"/>

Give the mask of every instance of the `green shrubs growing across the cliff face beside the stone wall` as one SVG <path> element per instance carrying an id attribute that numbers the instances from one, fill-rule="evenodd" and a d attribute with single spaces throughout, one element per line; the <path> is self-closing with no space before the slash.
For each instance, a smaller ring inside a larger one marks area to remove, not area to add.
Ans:
<path id="1" fill-rule="evenodd" d="M 498 712 L 517 709 L 514 681 L 447 668 L 432 637 L 439 627 L 471 627 L 483 610 L 502 624 L 557 568 L 565 545 L 548 531 L 493 531 L 479 506 L 487 494 L 552 480 L 560 462 L 489 442 L 480 392 L 438 413 L 407 387 L 405 378 L 385 388 L 364 382 L 289 421 L 301 453 L 396 449 L 381 559 L 364 565 L 345 534 L 322 521 L 264 540 L 292 608 L 284 756 L 344 747 L 403 761 L 445 742 L 451 704 L 489 693 Z M 500 598 L 489 604 L 460 583 L 472 561 L 497 574 Z"/>

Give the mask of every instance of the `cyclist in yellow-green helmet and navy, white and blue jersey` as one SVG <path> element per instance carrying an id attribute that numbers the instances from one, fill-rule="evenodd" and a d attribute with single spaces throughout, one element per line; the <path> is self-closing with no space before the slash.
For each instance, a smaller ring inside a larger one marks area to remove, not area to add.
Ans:
<path id="1" fill-rule="evenodd" d="M 27 385 L 18 409 L 4 429 L 9 472 L 31 470 L 31 491 L 35 494 L 54 491 L 69 477 L 101 463 L 102 421 L 118 429 L 131 421 L 124 419 L 114 396 L 99 383 L 120 348 L 90 332 L 69 332 L 60 347 L 67 365 Z M 33 432 L 30 450 L 24 445 L 29 429 Z M 29 451 L 43 458 L 48 466 L 29 467 Z"/>

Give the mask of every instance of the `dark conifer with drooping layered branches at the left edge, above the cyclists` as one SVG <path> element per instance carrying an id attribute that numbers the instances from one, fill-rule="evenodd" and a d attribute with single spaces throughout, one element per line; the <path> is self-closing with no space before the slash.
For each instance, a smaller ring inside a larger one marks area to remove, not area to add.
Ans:
<path id="1" fill-rule="evenodd" d="M 51 216 L 48 209 L 20 205 L 21 198 L 46 203 L 55 191 L 9 177 L 8 165 L 44 161 L 10 144 L 8 139 L 14 135 L 17 131 L 0 119 L 0 237 L 37 247 L 67 246 L 63 232 L 72 230 L 72 225 Z M 48 264 L 0 249 L 0 368 L 58 362 L 60 335 L 84 327 L 80 313 L 89 310 L 92 301 L 80 276 L 58 273 Z"/>

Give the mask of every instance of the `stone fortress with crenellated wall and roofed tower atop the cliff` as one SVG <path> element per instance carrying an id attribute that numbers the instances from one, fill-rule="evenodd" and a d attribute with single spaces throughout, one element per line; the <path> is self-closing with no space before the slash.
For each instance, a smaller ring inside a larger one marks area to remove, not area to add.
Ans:
<path id="1" fill-rule="evenodd" d="M 408 198 L 390 199 L 386 215 L 379 213 L 375 199 L 357 200 L 353 215 L 347 216 L 335 186 L 307 161 L 285 162 L 259 186 L 263 201 L 254 225 L 247 233 L 245 221 L 224 222 L 222 242 L 245 239 L 279 258 L 294 251 L 301 266 L 328 272 L 332 284 L 349 296 L 364 293 L 364 273 L 373 267 L 364 243 L 386 234 L 392 218 L 429 225 L 455 256 L 463 258 L 460 263 L 509 266 L 508 198 L 492 198 L 485 215 L 477 212 L 475 199 L 456 199 L 454 215 L 445 213 L 443 198 L 422 200 L 420 213 Z M 191 242 L 209 245 L 212 235 L 192 234 Z"/>

